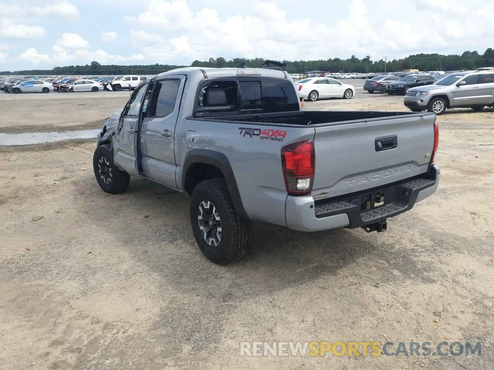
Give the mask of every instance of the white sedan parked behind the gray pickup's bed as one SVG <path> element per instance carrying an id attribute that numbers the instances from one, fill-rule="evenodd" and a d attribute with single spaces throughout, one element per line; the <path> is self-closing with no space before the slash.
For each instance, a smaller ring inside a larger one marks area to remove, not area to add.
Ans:
<path id="1" fill-rule="evenodd" d="M 315 102 L 319 98 L 345 98 L 355 96 L 355 87 L 341 83 L 334 78 L 312 77 L 295 82 L 295 88 L 300 99 L 309 99 Z"/>

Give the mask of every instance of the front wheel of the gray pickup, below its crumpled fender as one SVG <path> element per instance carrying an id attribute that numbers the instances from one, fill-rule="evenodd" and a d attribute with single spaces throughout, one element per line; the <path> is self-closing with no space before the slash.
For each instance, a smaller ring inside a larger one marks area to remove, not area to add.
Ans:
<path id="1" fill-rule="evenodd" d="M 122 193 L 130 184 L 130 176 L 120 171 L 113 162 L 112 151 L 108 144 L 100 145 L 94 150 L 93 170 L 99 186 L 107 193 Z"/>

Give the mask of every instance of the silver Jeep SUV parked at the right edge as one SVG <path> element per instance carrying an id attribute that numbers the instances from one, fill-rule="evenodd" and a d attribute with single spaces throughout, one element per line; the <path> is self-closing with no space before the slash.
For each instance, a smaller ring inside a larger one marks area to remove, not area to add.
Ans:
<path id="1" fill-rule="evenodd" d="M 404 104 L 411 111 L 443 114 L 450 108 L 481 111 L 494 107 L 494 72 L 470 71 L 449 74 L 432 85 L 412 87 Z"/>

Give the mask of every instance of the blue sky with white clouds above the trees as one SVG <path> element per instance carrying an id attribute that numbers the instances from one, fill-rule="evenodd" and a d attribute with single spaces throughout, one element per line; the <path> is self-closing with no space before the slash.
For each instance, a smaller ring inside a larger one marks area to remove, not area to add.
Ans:
<path id="1" fill-rule="evenodd" d="M 494 0 L 0 0 L 0 71 L 494 47 Z"/>

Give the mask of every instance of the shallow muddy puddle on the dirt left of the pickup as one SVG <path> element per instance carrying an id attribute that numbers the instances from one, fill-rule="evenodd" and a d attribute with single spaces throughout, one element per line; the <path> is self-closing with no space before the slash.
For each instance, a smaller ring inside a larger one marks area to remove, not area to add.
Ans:
<path id="1" fill-rule="evenodd" d="M 96 138 L 99 129 L 62 131 L 62 132 L 26 132 L 23 134 L 0 134 L 0 146 L 33 145 L 54 143 L 62 140 Z"/>

